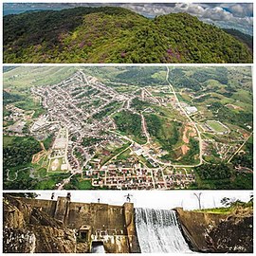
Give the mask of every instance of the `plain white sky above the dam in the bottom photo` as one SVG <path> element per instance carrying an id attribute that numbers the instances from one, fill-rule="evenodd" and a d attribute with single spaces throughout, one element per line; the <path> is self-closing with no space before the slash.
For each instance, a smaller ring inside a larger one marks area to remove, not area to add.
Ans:
<path id="1" fill-rule="evenodd" d="M 39 192 L 38 198 L 50 199 L 51 192 Z M 55 192 L 55 200 L 58 196 L 65 196 L 67 192 Z M 173 209 L 183 207 L 185 210 L 198 209 L 198 201 L 192 191 L 73 191 L 72 202 L 101 203 L 110 205 L 122 205 L 127 195 L 131 193 L 131 201 L 135 207 L 153 209 Z M 196 192 L 198 193 L 198 192 Z M 251 192 L 245 191 L 203 191 L 201 195 L 202 207 L 221 207 L 220 200 L 223 197 L 236 198 L 247 202 Z"/>

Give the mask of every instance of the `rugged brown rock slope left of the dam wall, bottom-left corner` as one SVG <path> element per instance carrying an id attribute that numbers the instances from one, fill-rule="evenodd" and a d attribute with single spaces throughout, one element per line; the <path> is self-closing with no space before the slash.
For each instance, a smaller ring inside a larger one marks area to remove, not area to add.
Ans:
<path id="1" fill-rule="evenodd" d="M 4 198 L 4 252 L 76 252 L 72 229 L 22 200 Z"/>

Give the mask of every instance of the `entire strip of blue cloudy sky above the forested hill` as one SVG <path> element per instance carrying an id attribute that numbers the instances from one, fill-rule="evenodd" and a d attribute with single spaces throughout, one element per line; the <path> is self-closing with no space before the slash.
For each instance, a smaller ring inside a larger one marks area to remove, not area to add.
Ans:
<path id="1" fill-rule="evenodd" d="M 18 13 L 24 9 L 65 9 L 74 6 L 120 6 L 132 9 L 147 17 L 168 14 L 173 12 L 188 12 L 197 16 L 200 20 L 215 24 L 219 27 L 229 27 L 239 29 L 252 35 L 253 4 L 250 3 L 170 3 L 170 4 L 151 4 L 151 3 L 122 3 L 122 4 L 84 4 L 84 3 L 65 3 L 65 4 L 4 4 L 4 14 Z M 16 9 L 16 11 L 15 11 Z M 19 11 L 17 11 L 17 9 Z"/>

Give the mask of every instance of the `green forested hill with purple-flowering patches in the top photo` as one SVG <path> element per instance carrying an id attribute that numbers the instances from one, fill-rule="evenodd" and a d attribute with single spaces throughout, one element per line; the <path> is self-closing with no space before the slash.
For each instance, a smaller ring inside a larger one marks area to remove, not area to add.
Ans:
<path id="1" fill-rule="evenodd" d="M 186 13 L 75 8 L 4 17 L 5 63 L 251 63 L 246 45 Z"/>

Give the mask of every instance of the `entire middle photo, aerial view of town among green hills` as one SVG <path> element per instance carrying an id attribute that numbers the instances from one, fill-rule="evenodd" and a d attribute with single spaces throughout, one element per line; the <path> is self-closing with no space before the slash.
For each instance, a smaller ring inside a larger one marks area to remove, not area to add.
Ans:
<path id="1" fill-rule="evenodd" d="M 252 189 L 250 66 L 6 66 L 4 188 Z"/>

